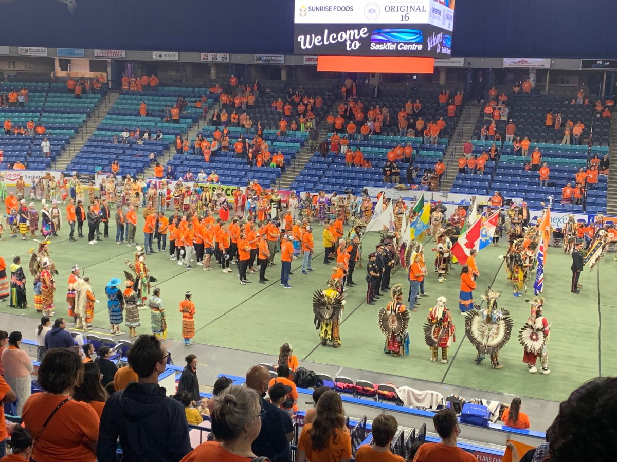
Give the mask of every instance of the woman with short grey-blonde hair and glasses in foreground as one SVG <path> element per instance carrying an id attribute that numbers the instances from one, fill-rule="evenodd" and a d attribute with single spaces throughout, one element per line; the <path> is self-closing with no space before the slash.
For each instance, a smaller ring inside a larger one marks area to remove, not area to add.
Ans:
<path id="1" fill-rule="evenodd" d="M 255 458 L 252 443 L 262 429 L 262 410 L 255 390 L 230 385 L 215 397 L 212 433 L 217 441 L 197 446 L 182 462 L 242 461 Z"/>

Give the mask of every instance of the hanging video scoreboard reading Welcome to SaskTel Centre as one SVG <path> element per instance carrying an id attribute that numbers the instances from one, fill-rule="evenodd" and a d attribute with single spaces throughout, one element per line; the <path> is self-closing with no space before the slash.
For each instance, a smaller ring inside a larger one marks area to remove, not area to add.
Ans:
<path id="1" fill-rule="evenodd" d="M 449 58 L 453 0 L 296 0 L 294 53 Z"/>

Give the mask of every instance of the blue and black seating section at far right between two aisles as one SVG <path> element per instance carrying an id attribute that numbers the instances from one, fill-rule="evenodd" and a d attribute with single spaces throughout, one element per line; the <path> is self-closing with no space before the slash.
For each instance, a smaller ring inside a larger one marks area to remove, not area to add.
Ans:
<path id="1" fill-rule="evenodd" d="M 602 159 L 609 154 L 608 142 L 610 135 L 610 119 L 595 117 L 592 105 L 571 105 L 572 94 L 549 94 L 549 96 L 529 97 L 508 95 L 509 118 L 516 125 L 516 136 L 529 138 L 531 144 L 528 154 L 537 147 L 542 152 L 542 162 L 547 162 L 550 168 L 549 186 L 540 186 L 539 175 L 536 171 L 524 171 L 525 162 L 529 157 L 513 155 L 511 142 L 503 143 L 499 162 L 496 166 L 487 168 L 484 175 L 457 174 L 450 192 L 462 194 L 489 194 L 500 191 L 504 197 L 521 197 L 530 208 L 542 208 L 540 202 L 547 202 L 547 197 L 555 199 L 552 209 L 556 212 L 574 213 L 606 213 L 607 203 L 607 176 L 598 176 L 597 189 L 587 190 L 585 205 L 560 204 L 561 190 L 566 183 L 574 186 L 574 175 L 579 168 L 587 168 L 588 147 L 573 144 L 561 144 L 563 139 L 563 124 L 567 120 L 577 123 L 579 120 L 585 125 L 581 138 L 588 139 L 592 135 L 591 157 L 598 154 Z M 590 96 L 591 101 L 595 99 Z M 483 109 L 483 108 L 482 108 Z M 554 115 L 558 112 L 563 117 L 560 130 L 545 126 L 546 114 L 549 110 Z M 489 125 L 484 121 L 482 110 L 473 131 L 474 154 L 481 154 L 491 147 L 492 141 L 481 141 L 480 129 L 482 125 Z M 497 131 L 505 133 L 507 120 L 497 121 Z M 454 159 L 454 162 L 456 160 Z M 478 181 L 478 177 L 480 178 Z"/>

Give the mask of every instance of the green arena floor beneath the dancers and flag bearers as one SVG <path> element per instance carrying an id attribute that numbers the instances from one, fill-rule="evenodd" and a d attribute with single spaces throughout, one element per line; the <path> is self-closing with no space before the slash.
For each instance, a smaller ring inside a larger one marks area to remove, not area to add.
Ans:
<path id="1" fill-rule="evenodd" d="M 140 215 L 138 229 L 141 229 L 142 221 Z M 560 248 L 549 249 L 545 266 L 544 315 L 552 322 L 549 344 L 552 372 L 548 376 L 531 375 L 522 362 L 523 347 L 518 343 L 518 330 L 529 316 L 525 300 L 532 296 L 533 289 L 530 286 L 528 294 L 523 297 L 513 297 L 511 294 L 511 286 L 502 267 L 503 260 L 499 259 L 499 255 L 506 250 L 503 241 L 499 247 L 491 246 L 479 253 L 477 262 L 481 277 L 476 281 L 478 289 L 474 291 L 474 299 L 479 302 L 482 292 L 490 284 L 494 284 L 495 289 L 503 290 L 500 305 L 510 310 L 514 320 L 510 342 L 500 352 L 504 368 L 494 370 L 487 360 L 479 366 L 473 363 L 476 352 L 466 339 L 463 316 L 458 314 L 458 265 L 455 265 L 447 281 L 442 284 L 437 283 L 435 273 L 429 272 L 425 289 L 430 296 L 422 299 L 419 312 L 411 316 L 408 357 L 384 355 L 384 337 L 378 328 L 377 311 L 385 305 L 387 297 L 382 297 L 374 306 L 366 305 L 364 269 L 357 269 L 357 277 L 354 279 L 358 285 L 346 292 L 347 303 L 341 325 L 342 348 L 321 346 L 313 325 L 312 294 L 317 289 L 325 288 L 331 266 L 323 263 L 323 228 L 316 225 L 314 229 L 315 271 L 307 276 L 301 274 L 300 260 L 294 260 L 294 275 L 290 282 L 292 289 L 280 286 L 280 262 L 268 268 L 266 276 L 270 282 L 267 285 L 257 283 L 257 274 L 249 274 L 253 283 L 241 286 L 236 273 L 225 274 L 220 270 L 207 272 L 201 266 L 187 270 L 170 261 L 168 254 L 147 257 L 146 263 L 152 276 L 159 279 L 157 286 L 161 289 L 167 310 L 168 337 L 181 339 L 178 303 L 183 299 L 184 292 L 190 290 L 194 294 L 197 308 L 194 341 L 202 344 L 276 355 L 281 344 L 292 342 L 294 353 L 300 360 L 555 401 L 563 400 L 582 382 L 592 377 L 617 374 L 617 345 L 614 340 L 617 311 L 615 303 L 611 302 L 617 295 L 617 287 L 613 286 L 617 262 L 613 260 L 612 253 L 605 256 L 594 271 L 585 268 L 580 281 L 583 286 L 581 294 L 576 295 L 569 290 L 571 257 L 563 254 Z M 368 234 L 363 240 L 364 263 L 366 255 L 377 241 L 378 234 L 375 233 Z M 6 260 L 7 270 L 14 255 L 21 255 L 27 270 L 28 249 L 36 244 L 31 240 L 11 239 L 5 231 L 4 241 L 0 242 L 0 255 Z M 432 244 L 428 242 L 425 245 L 429 266 L 433 260 Z M 101 242 L 96 245 L 88 245 L 86 238 L 69 242 L 68 225 L 63 223 L 60 237 L 52 238 L 50 249 L 59 271 L 56 316 L 66 315 L 68 274 L 70 268 L 77 264 L 83 268 L 82 276 L 91 278 L 94 293 L 101 300 L 95 307 L 93 333 L 109 334 L 104 286 L 111 278 L 123 278 L 125 260 L 132 260 L 134 248 L 115 244 L 114 226 L 110 228 L 110 238 L 101 238 Z M 33 305 L 31 278 L 29 274 L 27 276 L 28 301 Z M 408 283 L 404 270 L 393 275 L 394 283 L 404 284 L 404 293 L 407 294 Z M 447 297 L 457 327 L 457 341 L 450 349 L 450 363 L 447 365 L 429 362 L 429 350 L 424 344 L 421 328 L 429 307 L 433 306 L 439 295 Z M 14 313 L 16 316 L 39 316 L 34 308 L 18 311 L 9 308 L 8 303 L 2 303 L 0 311 Z M 138 332 L 150 332 L 149 311 L 142 310 L 140 315 L 142 325 Z M 16 328 L 17 324 L 2 326 L 2 329 L 9 331 Z"/>

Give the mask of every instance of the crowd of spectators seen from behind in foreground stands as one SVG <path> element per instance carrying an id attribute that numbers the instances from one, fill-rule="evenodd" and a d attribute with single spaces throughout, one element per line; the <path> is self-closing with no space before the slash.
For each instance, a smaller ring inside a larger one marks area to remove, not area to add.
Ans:
<path id="1" fill-rule="evenodd" d="M 37 383 L 42 392 L 23 396 L 19 382 L 15 381 L 15 376 L 19 376 L 15 370 L 27 371 L 30 382 L 31 364 L 25 364 L 30 361 L 20 349 L 20 332 L 4 336 L 5 333 L 0 332 L 9 345 L 0 342 L 0 366 L 4 367 L 0 398 L 5 403 L 23 403 L 23 427 L 7 424 L 4 412 L 0 412 L 0 456 L 6 453 L 9 437 L 12 450 L 12 455 L 2 461 L 25 458 L 36 462 L 115 462 L 118 442 L 123 460 L 292 460 L 292 418 L 297 392 L 294 382 L 289 380 L 289 363 L 294 364 L 291 353 L 284 355 L 275 379 L 270 379 L 264 366 L 253 366 L 247 371 L 246 386 L 220 377 L 214 385 L 213 398 L 197 405 L 196 377 L 184 377 L 173 398 L 159 386 L 159 375 L 165 371 L 170 353 L 155 336 L 140 336 L 128 353 L 128 366 L 115 369 L 113 374 L 105 362 L 109 361 L 107 347 L 99 350 L 96 361 L 87 355 L 80 356 L 73 346 L 57 347 L 44 354 L 39 366 Z M 86 346 L 83 350 L 87 350 Z M 194 373 L 195 361 L 194 355 L 186 357 L 187 374 Z M 616 449 L 611 425 L 617 411 L 616 390 L 615 377 L 600 377 L 574 390 L 561 403 L 558 416 L 547 431 L 546 443 L 523 455 L 507 442 L 513 452 L 512 460 L 611 460 Z M 349 461 L 352 442 L 341 396 L 327 387 L 317 387 L 313 400 L 315 408 L 306 413 L 295 461 Z M 203 416 L 210 421 L 210 437 L 207 442 L 191 447 L 188 423 L 199 424 Z M 521 412 L 520 398 L 513 399 L 503 421 L 510 427 L 529 428 L 529 418 Z M 453 410 L 437 411 L 433 424 L 441 442 L 416 443 L 409 462 L 476 460 L 458 447 L 461 428 Z M 376 416 L 371 424 L 373 445 L 357 448 L 355 460 L 404 462 L 390 450 L 397 429 L 394 416 Z M 581 444 L 581 437 L 593 443 Z"/>

